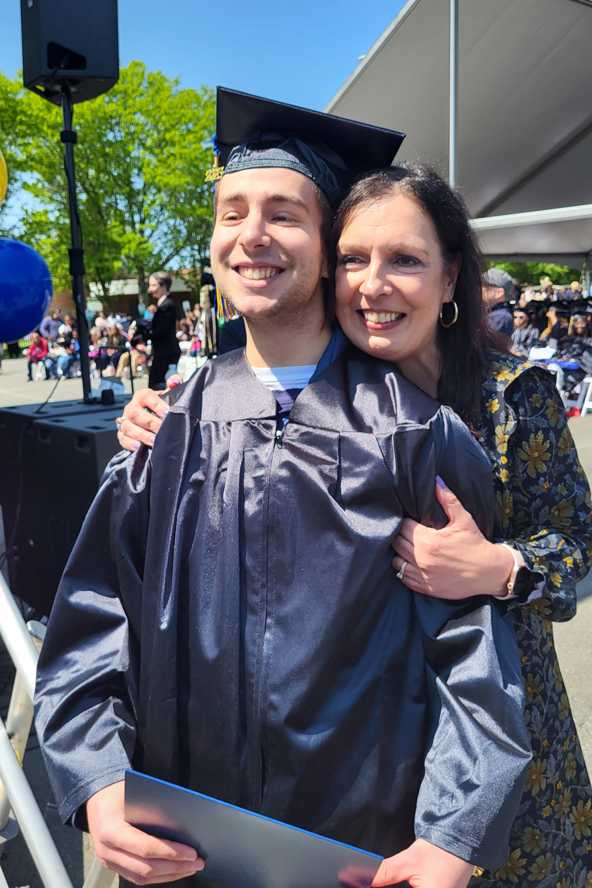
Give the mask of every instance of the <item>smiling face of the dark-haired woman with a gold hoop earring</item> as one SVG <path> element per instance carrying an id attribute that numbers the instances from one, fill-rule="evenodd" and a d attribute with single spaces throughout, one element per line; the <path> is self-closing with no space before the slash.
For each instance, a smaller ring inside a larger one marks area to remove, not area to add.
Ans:
<path id="1" fill-rule="evenodd" d="M 458 271 L 458 260 L 445 264 L 436 228 L 412 197 L 393 191 L 360 204 L 337 244 L 336 313 L 343 332 L 386 361 L 437 353 L 440 308 L 454 297 Z"/>

